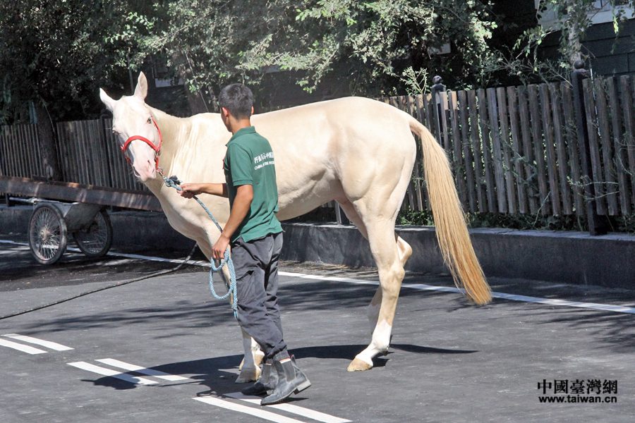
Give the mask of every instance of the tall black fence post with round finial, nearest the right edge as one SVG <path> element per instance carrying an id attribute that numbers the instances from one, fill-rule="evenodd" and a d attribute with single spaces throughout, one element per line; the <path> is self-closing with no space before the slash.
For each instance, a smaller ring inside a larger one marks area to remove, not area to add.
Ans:
<path id="1" fill-rule="evenodd" d="M 595 186 L 593 185 L 593 173 L 591 171 L 591 148 L 588 142 L 588 127 L 586 122 L 586 105 L 584 104 L 584 92 L 582 81 L 588 78 L 584 68 L 584 62 L 576 60 L 574 71 L 571 72 L 571 85 L 573 85 L 574 111 L 576 114 L 576 133 L 578 135 L 578 149 L 581 161 L 581 180 L 584 188 L 584 201 L 586 203 L 586 217 L 588 220 L 588 232 L 591 235 L 604 235 L 607 233 L 606 216 L 598 216 L 595 208 Z"/>

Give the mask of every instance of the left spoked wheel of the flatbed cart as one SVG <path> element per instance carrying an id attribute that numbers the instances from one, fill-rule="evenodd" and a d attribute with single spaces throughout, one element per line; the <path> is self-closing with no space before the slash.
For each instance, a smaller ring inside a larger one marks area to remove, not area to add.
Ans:
<path id="1" fill-rule="evenodd" d="M 35 207 L 29 221 L 29 247 L 41 264 L 53 264 L 66 251 L 66 222 L 54 206 Z"/>

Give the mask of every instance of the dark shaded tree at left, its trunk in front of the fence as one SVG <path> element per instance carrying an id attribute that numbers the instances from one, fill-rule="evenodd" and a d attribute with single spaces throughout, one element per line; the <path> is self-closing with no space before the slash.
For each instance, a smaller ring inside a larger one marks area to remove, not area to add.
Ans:
<path id="1" fill-rule="evenodd" d="M 145 3 L 0 3 L 0 32 L 5 35 L 0 38 L 0 122 L 37 123 L 48 178 L 61 176 L 53 122 L 98 114 L 97 87 L 133 61 L 138 46 L 132 37 L 121 40 L 120 26 L 135 6 L 143 10 Z"/>

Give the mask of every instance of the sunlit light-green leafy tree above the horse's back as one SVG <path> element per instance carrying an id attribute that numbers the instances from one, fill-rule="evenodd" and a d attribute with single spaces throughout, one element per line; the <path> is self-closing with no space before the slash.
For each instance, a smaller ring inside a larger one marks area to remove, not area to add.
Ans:
<path id="1" fill-rule="evenodd" d="M 178 0 L 159 37 L 171 66 L 193 90 L 229 80 L 258 82 L 272 69 L 314 90 L 332 73 L 349 92 L 393 92 L 422 69 L 475 82 L 491 56 L 495 22 L 476 0 Z M 451 45 L 446 56 L 435 54 Z M 410 77 L 410 78 L 409 78 Z M 410 84 L 412 85 L 412 84 Z"/>

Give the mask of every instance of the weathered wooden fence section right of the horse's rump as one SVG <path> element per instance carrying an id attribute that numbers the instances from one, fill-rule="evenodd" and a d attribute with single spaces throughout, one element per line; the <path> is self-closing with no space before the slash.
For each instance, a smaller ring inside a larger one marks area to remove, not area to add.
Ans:
<path id="1" fill-rule="evenodd" d="M 584 81 L 593 180 L 581 178 L 568 82 L 382 101 L 433 131 L 466 211 L 583 216 L 583 185 L 593 183 L 598 214 L 615 216 L 635 210 L 634 89 L 629 76 Z M 404 207 L 428 207 L 421 175 L 418 160 Z"/>

